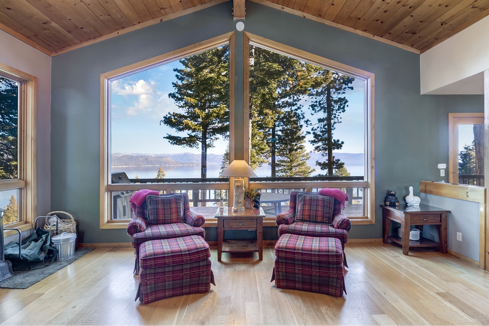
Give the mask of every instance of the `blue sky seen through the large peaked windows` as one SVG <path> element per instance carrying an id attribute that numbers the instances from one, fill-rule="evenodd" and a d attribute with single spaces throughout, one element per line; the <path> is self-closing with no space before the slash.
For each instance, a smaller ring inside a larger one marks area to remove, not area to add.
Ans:
<path id="1" fill-rule="evenodd" d="M 173 69 L 181 67 L 182 65 L 176 61 L 112 81 L 112 152 L 200 153 L 200 149 L 170 145 L 163 137 L 167 133 L 176 134 L 176 131 L 159 124 L 168 112 L 181 111 L 168 97 L 168 94 L 174 91 L 172 82 L 176 81 Z M 337 152 L 358 153 L 364 150 L 363 81 L 357 79 L 353 87 L 353 91 L 345 94 L 349 107 L 341 114 L 342 123 L 337 124 L 336 130 L 333 131 L 335 139 L 345 142 L 343 149 Z M 303 100 L 303 104 L 306 116 L 311 119 L 309 102 Z M 311 135 L 307 139 L 311 139 Z M 208 149 L 208 152 L 222 154 L 227 144 L 227 140 L 220 139 L 215 142 L 214 148 Z M 309 142 L 306 143 L 306 148 L 308 151 L 313 149 Z"/>

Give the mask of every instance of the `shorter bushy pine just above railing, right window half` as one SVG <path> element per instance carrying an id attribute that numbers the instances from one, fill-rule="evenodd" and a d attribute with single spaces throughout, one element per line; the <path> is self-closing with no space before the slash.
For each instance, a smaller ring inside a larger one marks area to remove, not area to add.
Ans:
<path id="1" fill-rule="evenodd" d="M 287 111 L 279 121 L 277 135 L 277 168 L 276 176 L 311 176 L 314 169 L 307 164 L 311 158 L 304 146 L 306 136 L 302 131 L 298 112 Z"/>

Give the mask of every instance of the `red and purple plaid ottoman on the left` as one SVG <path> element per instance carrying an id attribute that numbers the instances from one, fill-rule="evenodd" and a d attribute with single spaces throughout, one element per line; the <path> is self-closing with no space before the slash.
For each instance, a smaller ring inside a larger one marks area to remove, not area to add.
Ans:
<path id="1" fill-rule="evenodd" d="M 136 300 L 149 304 L 167 297 L 207 293 L 215 284 L 209 245 L 200 236 L 152 240 L 139 247 Z"/>

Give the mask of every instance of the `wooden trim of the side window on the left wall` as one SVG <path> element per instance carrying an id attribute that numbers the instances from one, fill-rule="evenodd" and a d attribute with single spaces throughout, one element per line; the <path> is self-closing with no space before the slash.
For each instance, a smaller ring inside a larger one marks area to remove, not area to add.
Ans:
<path id="1" fill-rule="evenodd" d="M 8 227 L 27 231 L 34 227 L 34 219 L 37 216 L 37 77 L 1 63 L 0 74 L 19 82 L 18 178 L 0 181 L 0 190 L 19 189 L 17 197 L 19 221 L 8 224 Z M 15 233 L 15 231 L 6 231 L 4 236 Z"/>

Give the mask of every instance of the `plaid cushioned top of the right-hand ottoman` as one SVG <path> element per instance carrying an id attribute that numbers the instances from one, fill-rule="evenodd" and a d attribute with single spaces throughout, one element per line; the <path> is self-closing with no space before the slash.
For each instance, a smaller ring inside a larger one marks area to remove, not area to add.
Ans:
<path id="1" fill-rule="evenodd" d="M 286 234 L 275 244 L 275 256 L 290 261 L 312 261 L 343 267 L 341 241 Z"/>

